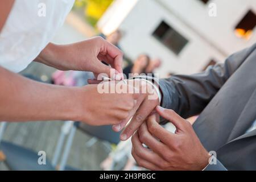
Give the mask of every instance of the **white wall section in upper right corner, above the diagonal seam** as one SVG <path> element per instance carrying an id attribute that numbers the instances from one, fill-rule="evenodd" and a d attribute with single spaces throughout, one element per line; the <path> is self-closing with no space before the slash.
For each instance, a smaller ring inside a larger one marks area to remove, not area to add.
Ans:
<path id="1" fill-rule="evenodd" d="M 226 54 L 239 51 L 256 42 L 256 30 L 249 41 L 237 38 L 234 27 L 249 9 L 256 13 L 255 0 L 212 0 L 217 5 L 217 17 L 208 16 L 209 3 L 199 0 L 159 0 L 170 7 L 175 14 L 189 23 L 195 30 L 207 37 Z"/>

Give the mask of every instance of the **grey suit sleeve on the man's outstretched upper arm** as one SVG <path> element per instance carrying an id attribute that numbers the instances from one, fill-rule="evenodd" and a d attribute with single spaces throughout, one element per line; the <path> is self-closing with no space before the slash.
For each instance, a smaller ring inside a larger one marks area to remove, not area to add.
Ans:
<path id="1" fill-rule="evenodd" d="M 163 96 L 162 106 L 175 110 L 183 118 L 201 113 L 255 48 L 256 44 L 234 53 L 226 59 L 224 64 L 209 67 L 205 72 L 191 76 L 176 75 L 159 80 Z"/>

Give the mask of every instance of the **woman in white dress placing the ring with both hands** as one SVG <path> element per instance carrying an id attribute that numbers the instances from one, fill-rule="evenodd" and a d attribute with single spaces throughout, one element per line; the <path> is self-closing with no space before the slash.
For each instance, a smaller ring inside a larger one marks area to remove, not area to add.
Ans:
<path id="1" fill-rule="evenodd" d="M 138 94 L 106 96 L 98 92 L 97 85 L 48 85 L 17 74 L 38 61 L 62 71 L 91 71 L 111 77 L 111 67 L 101 63 L 105 60 L 114 68 L 112 78 L 122 78 L 122 52 L 100 37 L 68 45 L 49 43 L 73 3 L 0 1 L 0 121 L 71 120 L 110 125 L 120 123 L 134 109 Z"/>

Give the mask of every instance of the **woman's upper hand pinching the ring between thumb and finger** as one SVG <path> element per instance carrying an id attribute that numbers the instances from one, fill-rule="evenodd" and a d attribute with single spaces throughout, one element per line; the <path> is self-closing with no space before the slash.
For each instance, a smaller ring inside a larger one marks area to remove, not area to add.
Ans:
<path id="1" fill-rule="evenodd" d="M 48 44 L 48 46 L 35 59 L 40 63 L 67 71 L 90 71 L 94 75 L 107 74 L 114 80 L 120 80 L 122 75 L 123 53 L 101 37 L 95 37 L 83 42 L 64 46 Z M 103 64 L 109 63 L 115 69 Z"/>

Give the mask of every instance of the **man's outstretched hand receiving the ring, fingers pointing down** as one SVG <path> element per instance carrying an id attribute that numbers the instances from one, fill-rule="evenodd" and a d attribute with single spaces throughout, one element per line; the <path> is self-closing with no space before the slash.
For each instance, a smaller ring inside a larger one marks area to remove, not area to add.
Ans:
<path id="1" fill-rule="evenodd" d="M 158 94 L 151 84 L 148 84 L 145 80 L 127 80 L 127 84 L 137 88 L 140 92 L 140 96 L 137 100 L 137 105 L 131 111 L 129 117 L 125 119 L 121 124 L 113 126 L 114 131 L 121 131 L 133 117 L 130 123 L 125 127 L 120 136 L 121 140 L 129 139 L 135 131 L 142 125 L 148 115 L 160 104 Z"/>

